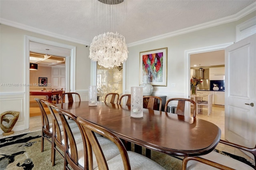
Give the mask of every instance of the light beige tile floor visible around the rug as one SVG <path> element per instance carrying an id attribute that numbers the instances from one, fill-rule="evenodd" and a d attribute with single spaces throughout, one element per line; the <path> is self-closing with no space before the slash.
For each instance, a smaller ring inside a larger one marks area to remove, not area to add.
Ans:
<path id="1" fill-rule="evenodd" d="M 51 120 L 50 115 L 48 115 L 48 116 L 49 116 L 49 121 L 50 121 Z M 222 132 L 221 139 L 225 140 L 225 138 L 224 138 L 224 136 L 225 136 L 225 134 L 224 134 L 225 113 L 224 113 L 223 107 L 212 107 L 212 113 L 210 114 L 209 117 L 207 116 L 207 110 L 203 110 L 201 113 L 198 113 L 198 115 L 196 115 L 196 118 L 209 121 L 211 123 L 214 123 L 218 127 L 220 127 L 221 132 Z M 24 134 L 24 133 L 28 133 L 28 132 L 34 132 L 34 131 L 38 131 L 38 130 L 41 130 L 41 116 L 34 116 L 34 117 L 30 117 L 29 129 L 16 131 L 16 132 L 14 132 L 14 134 L 9 135 L 9 136 Z M 5 138 L 5 137 L 8 137 L 8 136 L 3 136 L 2 134 L 0 134 L 0 138 Z M 247 156 L 240 150 L 234 149 L 231 146 L 226 146 L 224 144 L 218 144 L 216 149 L 226 151 L 231 154 L 238 155 L 238 156 L 242 156 L 247 159 L 251 159 L 249 156 Z"/>

